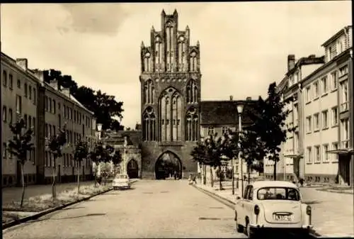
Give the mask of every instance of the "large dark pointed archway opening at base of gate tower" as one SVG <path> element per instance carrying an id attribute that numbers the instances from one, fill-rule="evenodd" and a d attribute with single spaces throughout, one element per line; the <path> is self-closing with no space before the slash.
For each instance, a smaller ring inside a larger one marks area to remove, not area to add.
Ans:
<path id="1" fill-rule="evenodd" d="M 177 173 L 177 178 L 182 178 L 182 163 L 181 160 L 173 152 L 164 152 L 155 164 L 155 177 L 156 179 L 166 179 L 173 172 Z"/>

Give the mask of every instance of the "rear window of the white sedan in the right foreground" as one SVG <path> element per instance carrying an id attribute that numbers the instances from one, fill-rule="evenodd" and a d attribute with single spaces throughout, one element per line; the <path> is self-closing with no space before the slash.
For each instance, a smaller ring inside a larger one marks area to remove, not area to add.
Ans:
<path id="1" fill-rule="evenodd" d="M 263 187 L 258 189 L 257 199 L 299 201 L 300 195 L 297 189 L 291 187 Z"/>

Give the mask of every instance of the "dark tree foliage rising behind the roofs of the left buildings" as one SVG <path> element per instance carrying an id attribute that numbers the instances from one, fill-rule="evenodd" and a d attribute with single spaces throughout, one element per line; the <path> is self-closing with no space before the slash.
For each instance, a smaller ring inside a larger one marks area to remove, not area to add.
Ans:
<path id="1" fill-rule="evenodd" d="M 62 75 L 59 70 L 45 70 L 43 72 L 45 82 L 56 79 L 61 87 L 69 88 L 71 94 L 87 109 L 93 111 L 98 123 L 102 123 L 103 130 L 122 130 L 120 120 L 123 118 L 123 102 L 116 101 L 115 96 L 103 93 L 101 90 L 94 91 L 90 87 L 78 87 L 77 83 L 69 75 Z M 119 120 L 118 120 L 119 119 Z"/>

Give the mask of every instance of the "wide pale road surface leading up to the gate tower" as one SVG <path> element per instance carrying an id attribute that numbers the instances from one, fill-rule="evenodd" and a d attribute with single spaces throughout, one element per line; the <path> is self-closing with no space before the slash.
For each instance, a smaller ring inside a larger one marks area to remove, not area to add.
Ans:
<path id="1" fill-rule="evenodd" d="M 234 212 L 184 180 L 139 181 L 8 228 L 3 238 L 245 238 Z"/>

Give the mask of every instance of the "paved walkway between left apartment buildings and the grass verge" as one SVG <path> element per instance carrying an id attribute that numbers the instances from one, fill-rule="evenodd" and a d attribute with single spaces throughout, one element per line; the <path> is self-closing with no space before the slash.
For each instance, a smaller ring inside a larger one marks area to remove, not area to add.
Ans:
<path id="1" fill-rule="evenodd" d="M 93 184 L 94 181 L 80 182 L 80 186 L 87 186 Z M 67 189 L 74 189 L 77 187 L 77 182 L 70 182 L 66 184 L 56 184 L 55 190 L 57 194 Z M 2 204 L 9 204 L 11 201 L 21 200 L 22 187 L 5 187 L 2 190 Z M 39 196 L 43 194 L 52 194 L 52 184 L 45 185 L 30 185 L 25 188 L 25 199 L 31 196 Z"/>

